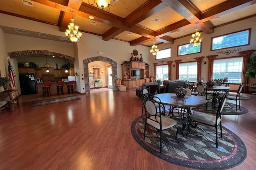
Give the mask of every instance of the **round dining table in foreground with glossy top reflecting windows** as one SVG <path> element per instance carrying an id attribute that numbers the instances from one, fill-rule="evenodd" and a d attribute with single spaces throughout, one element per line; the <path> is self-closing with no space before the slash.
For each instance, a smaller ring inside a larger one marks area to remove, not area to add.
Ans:
<path id="1" fill-rule="evenodd" d="M 158 97 L 161 100 L 161 103 L 164 105 L 186 109 L 188 111 L 188 116 L 190 114 L 190 111 L 189 111 L 190 107 L 201 106 L 206 103 L 206 99 L 199 96 L 195 96 L 195 95 L 185 96 L 184 99 L 177 98 L 175 93 L 161 93 L 154 96 Z M 157 101 L 158 99 L 155 98 L 154 100 Z M 183 136 L 186 136 L 185 127 L 187 125 L 187 122 L 186 122 L 186 119 L 184 118 L 184 114 L 183 115 L 180 114 L 180 119 L 182 123 Z"/>

